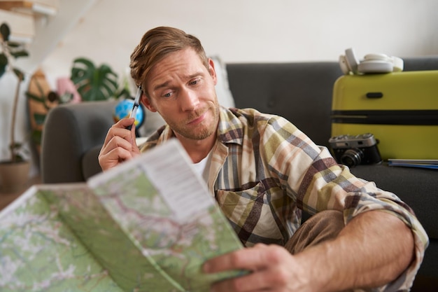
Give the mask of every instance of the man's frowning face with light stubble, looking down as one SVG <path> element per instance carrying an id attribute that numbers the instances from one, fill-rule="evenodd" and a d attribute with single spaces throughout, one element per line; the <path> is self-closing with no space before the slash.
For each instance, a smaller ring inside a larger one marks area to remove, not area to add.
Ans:
<path id="1" fill-rule="evenodd" d="M 206 69 L 191 48 L 171 53 L 150 71 L 143 104 L 160 113 L 178 138 L 201 140 L 216 134 L 219 104 L 214 64 Z"/>

